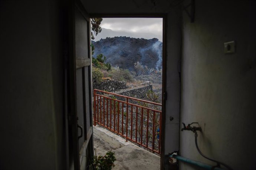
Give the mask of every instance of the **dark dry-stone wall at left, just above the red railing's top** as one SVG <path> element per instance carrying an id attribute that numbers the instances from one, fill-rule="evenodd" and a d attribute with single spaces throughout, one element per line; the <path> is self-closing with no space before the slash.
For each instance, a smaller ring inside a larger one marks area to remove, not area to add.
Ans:
<path id="1" fill-rule="evenodd" d="M 125 84 L 125 82 L 106 79 L 101 82 L 99 85 L 93 84 L 93 89 L 99 89 L 104 90 L 107 92 L 114 92 L 114 91 L 120 91 L 122 89 L 127 89 L 128 86 Z"/>

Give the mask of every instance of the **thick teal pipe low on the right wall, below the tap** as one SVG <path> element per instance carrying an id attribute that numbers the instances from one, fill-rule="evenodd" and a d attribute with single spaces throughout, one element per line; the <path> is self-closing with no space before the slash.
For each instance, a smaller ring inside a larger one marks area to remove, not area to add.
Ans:
<path id="1" fill-rule="evenodd" d="M 186 157 L 178 156 L 176 154 L 172 154 L 172 155 L 170 155 L 170 157 L 175 158 L 175 159 L 180 160 L 180 161 L 183 161 L 183 162 L 186 162 L 186 163 L 193 164 L 195 166 L 202 167 L 204 169 L 208 169 L 208 170 L 223 170 L 219 167 L 214 167 L 214 166 L 211 166 L 211 165 L 208 165 L 208 164 L 204 164 L 204 163 L 201 163 L 201 162 L 198 162 L 198 161 L 195 161 L 195 160 L 188 159 Z"/>

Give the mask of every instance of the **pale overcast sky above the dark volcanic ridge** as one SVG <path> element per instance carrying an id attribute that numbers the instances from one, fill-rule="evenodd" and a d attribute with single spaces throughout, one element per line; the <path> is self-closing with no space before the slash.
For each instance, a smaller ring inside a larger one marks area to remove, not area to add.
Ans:
<path id="1" fill-rule="evenodd" d="M 163 18 L 103 18 L 101 28 L 93 41 L 116 36 L 163 41 Z"/>

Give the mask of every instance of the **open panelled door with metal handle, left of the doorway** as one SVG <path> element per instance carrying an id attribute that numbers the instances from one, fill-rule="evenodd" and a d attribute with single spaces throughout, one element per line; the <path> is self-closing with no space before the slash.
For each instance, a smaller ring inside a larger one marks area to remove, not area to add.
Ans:
<path id="1" fill-rule="evenodd" d="M 81 2 L 69 6 L 69 169 L 87 169 L 93 156 L 90 18 Z"/>

